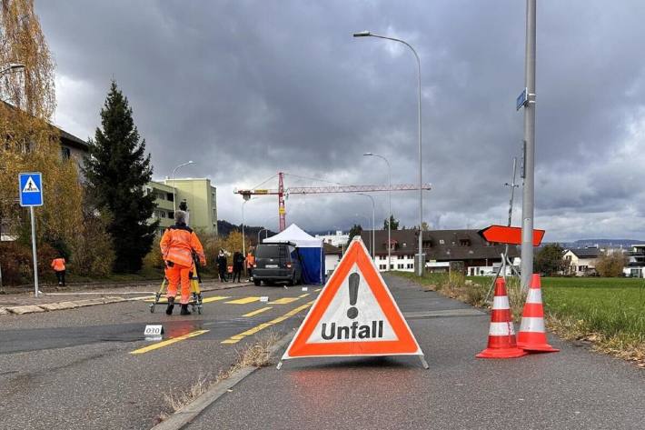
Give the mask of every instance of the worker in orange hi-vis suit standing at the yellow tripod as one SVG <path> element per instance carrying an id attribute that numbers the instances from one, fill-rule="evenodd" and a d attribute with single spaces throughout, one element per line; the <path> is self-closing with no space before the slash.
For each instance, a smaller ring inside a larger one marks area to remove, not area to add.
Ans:
<path id="1" fill-rule="evenodd" d="M 193 230 L 186 225 L 186 213 L 174 213 L 174 225 L 168 227 L 161 240 L 161 251 L 165 261 L 165 277 L 168 278 L 168 308 L 166 315 L 173 315 L 174 296 L 177 286 L 182 284 L 182 311 L 180 315 L 191 315 L 188 311 L 190 298 L 190 272 L 193 268 L 193 252 L 199 257 L 201 265 L 206 265 L 202 243 Z"/>

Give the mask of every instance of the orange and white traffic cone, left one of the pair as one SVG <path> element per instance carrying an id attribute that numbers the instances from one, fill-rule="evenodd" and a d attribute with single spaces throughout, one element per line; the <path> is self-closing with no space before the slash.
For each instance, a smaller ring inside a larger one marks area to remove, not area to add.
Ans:
<path id="1" fill-rule="evenodd" d="M 527 355 L 526 351 L 518 348 L 515 342 L 509 296 L 506 295 L 506 283 L 502 277 L 495 281 L 495 296 L 492 300 L 488 347 L 475 356 L 477 358 L 515 358 Z"/>

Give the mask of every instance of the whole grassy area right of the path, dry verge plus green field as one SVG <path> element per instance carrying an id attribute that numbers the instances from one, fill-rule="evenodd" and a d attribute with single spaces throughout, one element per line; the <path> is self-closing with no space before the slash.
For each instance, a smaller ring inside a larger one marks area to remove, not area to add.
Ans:
<path id="1" fill-rule="evenodd" d="M 476 307 L 489 308 L 491 277 L 392 272 Z M 630 278 L 542 278 L 547 327 L 563 339 L 633 361 L 645 368 L 645 281 Z M 521 320 L 525 295 L 519 280 L 507 284 L 513 319 Z M 487 297 L 488 295 L 488 297 Z"/>

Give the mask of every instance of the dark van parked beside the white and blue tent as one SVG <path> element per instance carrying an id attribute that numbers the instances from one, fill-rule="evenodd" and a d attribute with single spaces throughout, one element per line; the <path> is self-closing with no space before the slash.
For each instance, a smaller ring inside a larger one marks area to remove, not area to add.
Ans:
<path id="1" fill-rule="evenodd" d="M 302 278 L 300 255 L 292 242 L 260 244 L 255 247 L 253 284 L 274 285 L 276 282 L 286 282 L 287 285 L 297 285 Z"/>

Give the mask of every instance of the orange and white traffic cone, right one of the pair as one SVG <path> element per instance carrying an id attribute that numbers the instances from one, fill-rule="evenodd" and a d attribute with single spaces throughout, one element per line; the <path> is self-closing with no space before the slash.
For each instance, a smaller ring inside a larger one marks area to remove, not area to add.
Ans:
<path id="1" fill-rule="evenodd" d="M 544 332 L 544 308 L 542 307 L 542 292 L 540 275 L 533 274 L 529 295 L 521 313 L 520 332 L 517 335 L 517 345 L 525 351 L 557 353 L 559 349 L 547 344 Z"/>

